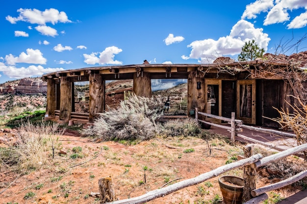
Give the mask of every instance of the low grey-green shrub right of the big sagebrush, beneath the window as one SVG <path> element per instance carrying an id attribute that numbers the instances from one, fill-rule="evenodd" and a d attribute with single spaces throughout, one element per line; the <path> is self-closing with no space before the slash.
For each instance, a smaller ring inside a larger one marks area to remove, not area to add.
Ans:
<path id="1" fill-rule="evenodd" d="M 165 136 L 198 136 L 201 128 L 193 118 L 170 120 L 163 124 L 161 133 Z"/>

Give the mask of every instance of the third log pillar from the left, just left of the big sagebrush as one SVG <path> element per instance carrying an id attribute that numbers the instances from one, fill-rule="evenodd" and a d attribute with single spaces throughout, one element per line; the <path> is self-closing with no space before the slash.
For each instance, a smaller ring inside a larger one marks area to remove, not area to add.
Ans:
<path id="1" fill-rule="evenodd" d="M 105 81 L 102 75 L 98 73 L 91 73 L 89 76 L 89 121 L 93 122 L 97 113 L 104 111 L 104 87 Z"/>

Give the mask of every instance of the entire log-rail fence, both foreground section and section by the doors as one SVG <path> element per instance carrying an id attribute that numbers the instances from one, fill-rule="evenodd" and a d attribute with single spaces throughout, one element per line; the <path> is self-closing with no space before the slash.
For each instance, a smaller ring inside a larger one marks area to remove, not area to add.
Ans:
<path id="1" fill-rule="evenodd" d="M 231 127 L 226 127 L 226 126 L 221 126 L 219 124 L 213 124 L 210 122 L 206 122 L 206 121 L 202 121 L 202 120 L 198 120 L 198 114 L 202 114 L 208 117 L 213 117 L 213 118 L 217 118 L 223 121 L 227 121 L 230 122 Z M 234 118 L 234 113 L 232 113 L 231 115 L 231 119 L 230 118 L 224 118 L 224 117 L 220 117 L 220 116 L 214 116 L 211 114 L 207 114 L 207 113 L 201 113 L 198 112 L 196 109 L 196 120 L 212 125 L 212 126 L 216 126 L 219 128 L 226 128 L 231 132 L 231 141 L 234 141 L 234 137 L 236 135 L 237 131 L 240 131 L 240 128 L 236 128 L 236 125 L 242 128 L 247 128 L 243 125 L 243 122 L 240 120 L 235 120 Z M 269 132 L 269 133 L 273 133 L 271 131 L 269 131 L 268 129 L 263 129 L 263 128 L 255 128 L 252 127 L 251 129 L 256 130 L 256 131 L 265 131 L 265 132 Z M 280 131 L 276 132 L 276 130 L 274 130 L 274 134 L 278 134 L 280 133 Z M 281 133 L 283 134 L 283 133 Z M 285 135 L 283 135 L 285 136 Z M 294 134 L 287 134 L 287 136 L 295 136 Z M 213 177 L 217 177 L 225 172 L 228 172 L 232 169 L 236 169 L 239 167 L 243 166 L 243 179 L 244 179 L 244 187 L 243 187 L 243 199 L 245 201 L 247 201 L 244 204 L 259 204 L 260 202 L 263 202 L 264 200 L 268 199 L 268 195 L 266 194 L 266 192 L 272 191 L 272 190 L 276 190 L 279 189 L 281 187 L 284 187 L 286 185 L 289 185 L 291 183 L 294 183 L 302 178 L 305 178 L 307 176 L 307 170 L 304 170 L 302 172 L 300 172 L 299 174 L 291 177 L 291 178 L 287 178 L 285 180 L 282 180 L 280 182 L 277 183 L 273 183 L 267 186 L 263 186 L 260 188 L 256 189 L 256 169 L 264 166 L 270 162 L 273 161 L 277 161 L 281 158 L 285 158 L 287 156 L 290 156 L 292 154 L 296 154 L 296 153 L 300 153 L 303 151 L 307 151 L 307 144 L 303 144 L 297 147 L 293 147 L 291 149 L 282 151 L 280 153 L 276 153 L 270 156 L 266 156 L 266 157 L 262 157 L 261 154 L 255 154 L 253 155 L 253 145 L 247 145 L 244 147 L 244 156 L 245 158 L 224 166 L 221 166 L 215 170 L 212 170 L 210 172 L 206 172 L 205 174 L 199 175 L 195 178 L 189 178 L 186 180 L 182 180 L 179 181 L 178 183 L 174 183 L 172 185 L 169 185 L 167 187 L 164 188 L 160 188 L 160 189 L 156 189 L 153 191 L 150 191 L 142 196 L 138 196 L 138 197 L 134 197 L 134 198 L 129 198 L 129 199 L 125 199 L 125 200 L 120 200 L 120 201 L 113 201 L 110 203 L 106 203 L 106 204 L 143 204 L 149 201 L 152 201 L 156 198 L 160 198 L 163 196 L 166 196 L 170 193 L 173 193 L 175 191 L 178 191 L 180 189 L 183 189 L 185 187 L 188 186 L 192 186 L 192 185 L 196 185 L 199 184 L 201 182 L 204 182 L 210 178 Z M 101 197 L 101 201 L 103 201 L 104 198 Z"/>

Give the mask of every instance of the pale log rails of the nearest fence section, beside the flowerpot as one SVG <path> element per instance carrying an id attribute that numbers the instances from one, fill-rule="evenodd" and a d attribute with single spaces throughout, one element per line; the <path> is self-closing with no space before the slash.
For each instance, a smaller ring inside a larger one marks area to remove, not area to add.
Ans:
<path id="1" fill-rule="evenodd" d="M 246 148 L 248 149 L 248 148 Z M 186 180 L 182 180 L 178 183 L 174 183 L 172 185 L 169 185 L 167 187 L 164 188 L 160 188 L 160 189 L 156 189 L 153 191 L 149 191 L 148 193 L 142 195 L 142 196 L 138 196 L 138 197 L 134 197 L 134 198 L 129 198 L 129 199 L 125 199 L 125 200 L 120 200 L 120 201 L 113 201 L 111 203 L 106 203 L 106 204 L 143 204 L 149 201 L 152 201 L 156 198 L 160 198 L 163 196 L 166 196 L 170 193 L 173 193 L 175 191 L 178 191 L 180 189 L 183 189 L 185 187 L 188 186 L 192 186 L 192 185 L 196 185 L 199 184 L 201 182 L 204 182 L 210 178 L 213 177 L 217 177 L 225 172 L 228 172 L 232 169 L 236 169 L 239 167 L 244 167 L 244 168 L 252 168 L 252 169 L 256 169 L 260 166 L 263 166 L 265 164 L 267 164 L 268 162 L 272 162 L 272 161 L 276 161 L 278 159 L 287 157 L 289 155 L 292 155 L 294 153 L 298 153 L 298 152 L 302 152 L 302 151 L 306 151 L 307 150 L 307 144 L 303 144 L 291 149 L 288 149 L 286 151 L 280 152 L 280 153 L 276 153 L 267 157 L 262 158 L 261 154 L 255 154 L 252 155 L 248 158 L 244 158 L 242 160 L 221 166 L 215 170 L 212 170 L 210 172 L 206 172 L 205 174 L 201 174 L 197 177 L 194 178 L 190 178 L 190 179 L 186 179 Z M 246 151 L 245 151 L 246 153 Z M 253 153 L 253 151 L 251 151 L 250 153 Z M 244 170 L 243 170 L 244 171 Z M 268 186 L 264 186 L 261 188 L 257 188 L 255 189 L 255 187 L 251 187 L 251 186 L 247 186 L 246 183 L 256 183 L 256 177 L 250 177 L 249 174 L 244 174 L 244 190 L 246 189 L 250 189 L 250 191 L 248 192 L 248 194 L 251 194 L 252 196 L 256 196 L 254 198 L 251 197 L 251 199 L 249 199 L 249 201 L 247 201 L 245 204 L 259 204 L 260 202 L 266 200 L 268 198 L 266 192 L 268 191 L 272 191 L 272 190 L 276 190 L 278 188 L 281 188 L 283 186 L 289 185 L 291 183 L 294 183 L 304 177 L 307 176 L 307 170 L 304 170 L 302 172 L 300 172 L 299 174 L 291 177 L 291 178 L 287 178 L 283 181 L 280 181 L 278 183 L 275 184 L 271 184 Z M 101 198 L 103 199 L 103 198 Z"/>

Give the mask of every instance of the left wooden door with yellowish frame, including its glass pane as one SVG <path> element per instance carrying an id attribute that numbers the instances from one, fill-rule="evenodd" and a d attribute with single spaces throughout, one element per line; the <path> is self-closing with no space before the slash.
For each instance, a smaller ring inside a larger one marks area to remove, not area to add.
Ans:
<path id="1" fill-rule="evenodd" d="M 205 112 L 221 116 L 222 113 L 222 80 L 205 79 Z M 213 123 L 221 123 L 221 120 L 214 118 L 206 118 L 207 121 Z"/>

